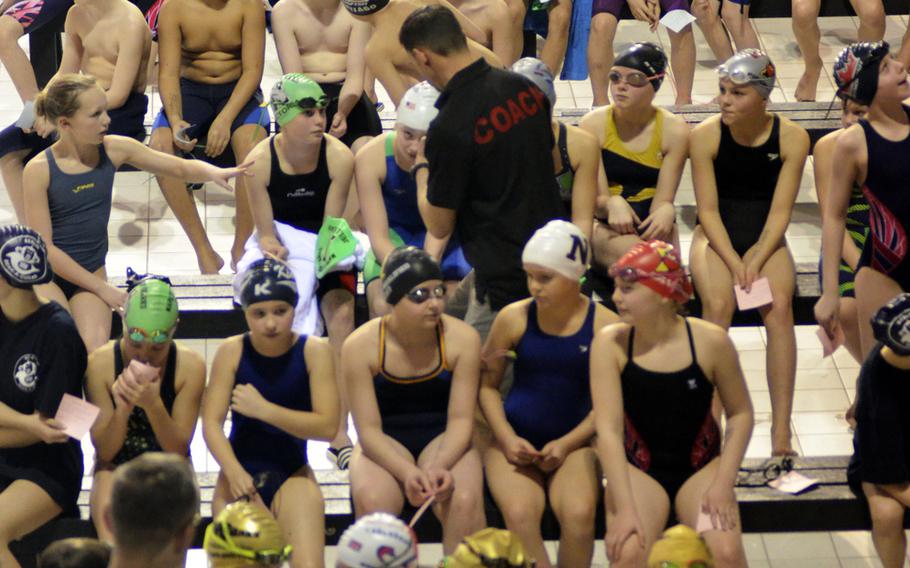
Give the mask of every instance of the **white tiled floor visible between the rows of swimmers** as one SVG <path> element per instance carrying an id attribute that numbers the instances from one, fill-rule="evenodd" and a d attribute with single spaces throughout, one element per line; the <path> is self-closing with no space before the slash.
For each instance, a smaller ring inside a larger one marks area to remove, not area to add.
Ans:
<path id="1" fill-rule="evenodd" d="M 793 90 L 801 74 L 801 61 L 793 39 L 790 21 L 787 19 L 754 20 L 762 46 L 775 61 L 779 74 L 779 85 L 772 94 L 772 101 L 793 100 Z M 855 37 L 856 18 L 822 18 L 821 56 L 830 68 L 840 49 Z M 886 38 L 892 45 L 900 44 L 907 26 L 905 16 L 889 16 Z M 696 102 L 710 101 L 717 89 L 713 67 L 716 62 L 707 44 L 696 28 L 696 43 L 699 61 L 696 69 L 694 99 Z M 638 23 L 624 21 L 617 34 L 617 44 L 636 40 L 656 40 L 666 48 L 669 41 L 661 29 L 657 38 Z M 24 41 L 23 41 L 24 44 Z M 274 45 L 267 42 L 267 57 L 263 90 L 267 93 L 280 75 Z M 833 97 L 834 86 L 829 74 L 822 75 L 819 82 L 818 98 Z M 560 97 L 558 108 L 583 108 L 590 106 L 591 88 L 587 81 L 559 81 L 557 92 Z M 381 89 L 380 89 L 381 93 Z M 11 123 L 19 113 L 15 92 L 5 70 L 0 70 L 0 124 Z M 381 94 L 382 95 L 382 94 Z M 384 95 L 382 95 L 383 98 Z M 672 104 L 675 97 L 672 79 L 664 84 L 657 102 Z M 158 111 L 159 101 L 153 93 L 150 97 L 152 109 L 149 121 Z M 386 101 L 386 108 L 391 105 Z M 811 164 L 807 165 L 803 183 L 797 198 L 797 209 L 787 238 L 797 261 L 814 262 L 818 257 L 820 226 L 818 207 L 813 189 Z M 231 192 L 206 186 L 195 193 L 200 217 L 205 223 L 209 237 L 216 250 L 227 258 L 233 235 L 233 204 Z M 692 206 L 694 196 L 688 173 L 683 176 L 677 196 L 680 207 L 681 241 L 683 253 L 687 255 L 691 241 Z M 14 220 L 12 208 L 5 191 L 0 191 L 0 223 Z M 188 251 L 192 249 L 181 231 L 173 214 L 165 205 L 157 184 L 144 173 L 120 173 L 117 175 L 114 192 L 114 208 L 108 234 L 111 248 L 108 256 L 108 273 L 122 275 L 127 266 L 137 271 L 160 271 L 164 273 L 195 273 L 196 259 Z M 226 269 L 227 270 L 227 269 Z M 748 455 L 763 457 L 770 452 L 768 387 L 764 376 L 765 344 L 761 328 L 736 328 L 731 331 L 736 343 L 742 366 L 746 374 L 756 410 L 756 428 L 749 446 Z M 849 401 L 853 399 L 858 365 L 843 350 L 833 358 L 822 359 L 821 346 L 815 337 L 815 329 L 801 326 L 797 329 L 799 347 L 796 398 L 793 413 L 794 447 L 803 455 L 848 454 L 851 438 L 843 415 Z M 194 340 L 188 342 L 193 348 L 211 357 L 218 340 Z M 90 465 L 92 448 L 84 444 L 86 463 Z M 192 444 L 193 461 L 199 471 L 216 471 L 217 464 L 205 449 L 201 434 Z M 314 467 L 329 467 L 325 458 L 325 444 L 310 445 L 310 461 Z M 878 566 L 868 533 L 800 533 L 800 534 L 750 534 L 746 535 L 750 565 L 753 567 L 773 566 L 811 568 L 841 566 L 853 568 Z M 601 545 L 598 545 L 595 565 L 605 565 Z M 441 554 L 438 545 L 422 545 L 422 564 L 433 564 Z M 327 552 L 333 558 L 334 551 Z M 191 556 L 191 566 L 202 566 L 198 555 Z M 910 562 L 906 564 L 910 566 Z"/>

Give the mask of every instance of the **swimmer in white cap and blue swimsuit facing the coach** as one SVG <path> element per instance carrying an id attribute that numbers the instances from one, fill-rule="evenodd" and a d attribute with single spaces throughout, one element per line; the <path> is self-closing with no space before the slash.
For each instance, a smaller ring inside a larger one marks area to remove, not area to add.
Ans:
<path id="1" fill-rule="evenodd" d="M 379 272 L 385 258 L 399 246 L 416 246 L 441 257 L 440 267 L 450 290 L 471 271 L 454 238 L 446 242 L 427 235 L 417 208 L 417 183 L 410 173 L 417 145 L 439 113 L 434 106 L 438 96 L 439 91 L 426 82 L 408 89 L 398 105 L 395 130 L 371 140 L 354 161 L 360 210 L 372 247 L 363 269 L 372 317 L 389 310 L 382 298 Z"/>

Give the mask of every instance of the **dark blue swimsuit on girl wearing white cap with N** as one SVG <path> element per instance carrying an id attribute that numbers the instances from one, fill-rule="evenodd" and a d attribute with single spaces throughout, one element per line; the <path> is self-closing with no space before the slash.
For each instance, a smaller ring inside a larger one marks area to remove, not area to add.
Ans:
<path id="1" fill-rule="evenodd" d="M 528 305 L 528 325 L 515 347 L 515 381 L 505 400 L 515 433 L 538 450 L 577 427 L 591 412 L 590 355 L 594 310 L 581 328 L 560 337 L 544 333 L 537 303 Z"/>

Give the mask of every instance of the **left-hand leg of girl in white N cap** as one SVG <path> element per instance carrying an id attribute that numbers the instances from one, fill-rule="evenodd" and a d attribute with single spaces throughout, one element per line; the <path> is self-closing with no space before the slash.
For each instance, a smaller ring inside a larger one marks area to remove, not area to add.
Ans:
<path id="1" fill-rule="evenodd" d="M 512 465 L 496 443 L 484 452 L 483 461 L 487 486 L 502 512 L 506 528 L 521 539 L 538 566 L 549 568 L 552 564 L 540 532 L 540 519 L 547 505 L 543 474 L 536 467 Z"/>

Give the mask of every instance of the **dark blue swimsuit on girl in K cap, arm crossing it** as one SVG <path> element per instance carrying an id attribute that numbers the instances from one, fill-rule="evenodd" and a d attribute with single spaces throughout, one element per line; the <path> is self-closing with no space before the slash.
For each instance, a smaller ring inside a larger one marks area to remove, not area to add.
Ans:
<path id="1" fill-rule="evenodd" d="M 243 336 L 243 352 L 235 385 L 251 384 L 269 402 L 291 410 L 312 411 L 310 374 L 304 358 L 307 336 L 301 335 L 284 355 L 266 357 L 253 348 L 250 334 Z M 307 441 L 284 430 L 232 412 L 231 447 L 240 465 L 266 506 L 281 485 L 307 464 Z"/>

